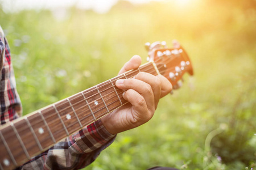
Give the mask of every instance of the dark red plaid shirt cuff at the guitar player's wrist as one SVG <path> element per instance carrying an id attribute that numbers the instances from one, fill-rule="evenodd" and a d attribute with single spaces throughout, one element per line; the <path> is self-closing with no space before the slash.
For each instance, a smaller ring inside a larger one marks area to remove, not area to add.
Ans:
<path id="1" fill-rule="evenodd" d="M 109 131 L 105 129 L 101 120 L 97 120 L 73 134 L 73 137 L 81 150 L 85 153 L 89 153 L 106 145 L 106 143 L 108 143 L 110 139 L 113 139 L 115 135 L 110 134 Z M 112 142 L 113 140 L 111 140 L 110 143 Z"/>

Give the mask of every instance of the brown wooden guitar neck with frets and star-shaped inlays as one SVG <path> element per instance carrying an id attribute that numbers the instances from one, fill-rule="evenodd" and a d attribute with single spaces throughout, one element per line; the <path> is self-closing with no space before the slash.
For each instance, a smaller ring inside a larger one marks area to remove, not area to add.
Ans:
<path id="1" fill-rule="evenodd" d="M 140 71 L 159 73 L 154 62 L 130 70 L 85 91 L 30 113 L 0 129 L 0 169 L 13 169 L 32 156 L 128 103 L 117 79 L 133 78 Z"/>

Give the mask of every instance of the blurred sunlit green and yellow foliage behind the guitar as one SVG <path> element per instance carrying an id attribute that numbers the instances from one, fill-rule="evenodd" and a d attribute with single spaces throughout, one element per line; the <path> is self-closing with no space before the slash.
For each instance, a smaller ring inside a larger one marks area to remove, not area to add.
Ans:
<path id="1" fill-rule="evenodd" d="M 195 76 L 86 169 L 256 168 L 255 0 L 0 9 L 0 20 L 24 114 L 112 78 L 134 54 L 146 62 L 144 42 L 177 39 L 187 50 Z"/>

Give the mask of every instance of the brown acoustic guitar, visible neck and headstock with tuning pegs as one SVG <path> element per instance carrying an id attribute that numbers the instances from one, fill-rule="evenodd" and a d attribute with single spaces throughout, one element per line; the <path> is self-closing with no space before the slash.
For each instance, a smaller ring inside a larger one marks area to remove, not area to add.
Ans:
<path id="1" fill-rule="evenodd" d="M 162 74 L 174 88 L 184 73 L 193 75 L 191 61 L 181 47 L 167 48 L 166 43 L 147 42 L 148 62 L 87 90 L 20 117 L 0 129 L 0 169 L 13 169 L 26 163 L 55 143 L 128 103 L 117 79 L 133 78 L 140 71 Z"/>

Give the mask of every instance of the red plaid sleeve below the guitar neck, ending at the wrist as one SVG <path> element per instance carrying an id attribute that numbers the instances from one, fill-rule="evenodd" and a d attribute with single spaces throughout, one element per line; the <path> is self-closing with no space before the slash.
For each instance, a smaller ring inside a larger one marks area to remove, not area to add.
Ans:
<path id="1" fill-rule="evenodd" d="M 20 169 L 81 169 L 92 163 L 114 141 L 101 120 L 88 125 L 35 156 Z"/>

